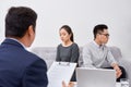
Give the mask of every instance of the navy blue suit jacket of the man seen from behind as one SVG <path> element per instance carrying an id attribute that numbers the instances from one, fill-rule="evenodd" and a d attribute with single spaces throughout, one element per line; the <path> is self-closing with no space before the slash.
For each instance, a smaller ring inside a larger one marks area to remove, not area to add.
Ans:
<path id="1" fill-rule="evenodd" d="M 21 44 L 5 39 L 0 46 L 0 87 L 47 87 L 47 65 Z"/>

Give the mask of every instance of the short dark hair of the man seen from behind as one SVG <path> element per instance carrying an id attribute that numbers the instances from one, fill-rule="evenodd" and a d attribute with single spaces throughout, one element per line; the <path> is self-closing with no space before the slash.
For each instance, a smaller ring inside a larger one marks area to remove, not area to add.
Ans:
<path id="1" fill-rule="evenodd" d="M 37 13 L 26 7 L 12 7 L 5 16 L 5 37 L 22 38 L 28 26 L 35 32 Z"/>

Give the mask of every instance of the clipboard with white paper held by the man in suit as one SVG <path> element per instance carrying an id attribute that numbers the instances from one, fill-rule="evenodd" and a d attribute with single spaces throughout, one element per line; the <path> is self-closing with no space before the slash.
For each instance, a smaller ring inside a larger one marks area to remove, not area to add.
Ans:
<path id="1" fill-rule="evenodd" d="M 53 62 L 47 72 L 48 87 L 62 87 L 62 80 L 69 84 L 76 63 L 71 62 Z"/>

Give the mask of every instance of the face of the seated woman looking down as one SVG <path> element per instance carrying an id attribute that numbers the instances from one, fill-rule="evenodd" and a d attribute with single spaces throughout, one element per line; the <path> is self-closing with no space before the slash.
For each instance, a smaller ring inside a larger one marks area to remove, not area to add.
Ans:
<path id="1" fill-rule="evenodd" d="M 64 28 L 61 28 L 60 29 L 60 39 L 63 41 L 63 42 L 67 42 L 70 40 L 70 37 L 71 37 L 71 34 L 69 34 Z"/>

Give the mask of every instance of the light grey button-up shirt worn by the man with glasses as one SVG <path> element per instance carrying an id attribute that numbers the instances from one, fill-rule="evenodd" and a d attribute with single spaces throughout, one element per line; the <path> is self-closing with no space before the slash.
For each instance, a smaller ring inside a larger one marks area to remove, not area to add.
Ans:
<path id="1" fill-rule="evenodd" d="M 107 46 L 92 41 L 83 47 L 83 66 L 107 67 L 112 63 L 117 62 Z"/>

